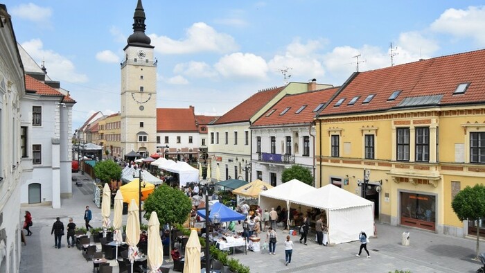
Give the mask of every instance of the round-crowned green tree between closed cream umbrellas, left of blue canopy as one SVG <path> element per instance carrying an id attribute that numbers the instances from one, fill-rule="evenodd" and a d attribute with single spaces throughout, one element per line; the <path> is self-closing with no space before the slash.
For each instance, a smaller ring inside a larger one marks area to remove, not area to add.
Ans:
<path id="1" fill-rule="evenodd" d="M 157 212 L 160 224 L 168 224 L 170 234 L 172 234 L 171 227 L 175 224 L 184 224 L 189 217 L 192 210 L 192 200 L 178 188 L 163 184 L 148 195 L 143 204 L 143 209 L 145 209 L 143 217 L 147 220 L 149 220 L 152 211 Z M 169 245 L 168 251 L 171 252 L 172 243 L 170 242 Z"/>

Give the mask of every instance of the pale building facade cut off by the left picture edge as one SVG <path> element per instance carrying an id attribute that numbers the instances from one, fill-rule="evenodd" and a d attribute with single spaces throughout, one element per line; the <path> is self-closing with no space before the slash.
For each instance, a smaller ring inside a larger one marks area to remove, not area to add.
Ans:
<path id="1" fill-rule="evenodd" d="M 0 4 L 0 272 L 19 272 L 21 130 L 20 100 L 25 95 L 12 21 Z"/>

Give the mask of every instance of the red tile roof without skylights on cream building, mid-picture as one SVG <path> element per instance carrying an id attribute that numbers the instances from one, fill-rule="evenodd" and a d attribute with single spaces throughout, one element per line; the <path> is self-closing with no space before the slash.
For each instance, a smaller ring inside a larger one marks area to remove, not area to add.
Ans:
<path id="1" fill-rule="evenodd" d="M 249 119 L 263 108 L 274 96 L 279 94 L 285 87 L 276 87 L 250 96 L 247 100 L 240 103 L 238 106 L 229 110 L 226 114 L 221 116 L 214 124 L 236 123 L 241 121 L 249 121 Z"/>

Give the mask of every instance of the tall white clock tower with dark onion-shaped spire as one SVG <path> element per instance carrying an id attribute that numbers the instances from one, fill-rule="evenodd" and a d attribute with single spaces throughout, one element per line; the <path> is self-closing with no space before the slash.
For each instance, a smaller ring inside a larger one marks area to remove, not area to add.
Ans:
<path id="1" fill-rule="evenodd" d="M 138 0 L 133 34 L 127 39 L 121 63 L 121 147 L 143 157 L 157 146 L 157 61 L 145 34 L 145 10 Z"/>

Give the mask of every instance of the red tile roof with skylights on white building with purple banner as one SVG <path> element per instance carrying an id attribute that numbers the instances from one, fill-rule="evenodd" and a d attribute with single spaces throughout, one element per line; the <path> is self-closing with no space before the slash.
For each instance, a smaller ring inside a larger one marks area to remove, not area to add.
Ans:
<path id="1" fill-rule="evenodd" d="M 286 95 L 276 105 L 272 106 L 263 116 L 253 123 L 254 126 L 288 125 L 312 123 L 317 112 L 313 112 L 318 105 L 326 103 L 339 87 L 310 91 L 302 94 Z M 296 113 L 306 105 L 301 112 Z M 288 112 L 281 114 L 290 107 Z M 275 111 L 273 111 L 276 109 Z M 271 113 L 270 116 L 267 114 Z"/>

